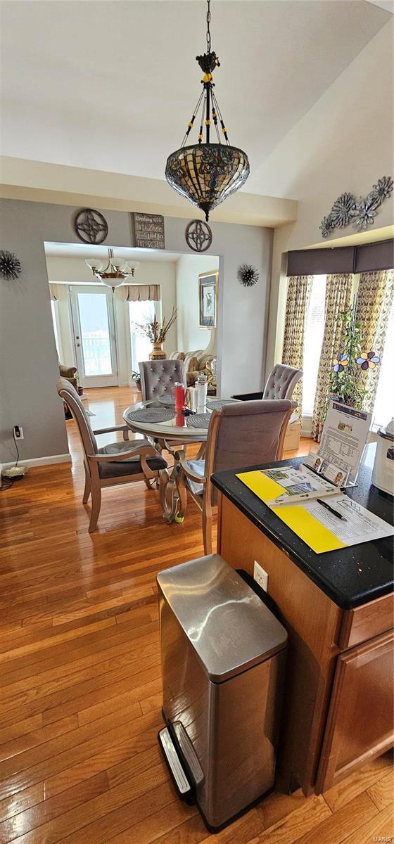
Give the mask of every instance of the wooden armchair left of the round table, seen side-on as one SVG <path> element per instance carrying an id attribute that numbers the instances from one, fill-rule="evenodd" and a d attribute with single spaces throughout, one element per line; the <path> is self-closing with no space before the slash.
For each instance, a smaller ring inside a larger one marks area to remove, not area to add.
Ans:
<path id="1" fill-rule="evenodd" d="M 58 379 L 57 392 L 70 408 L 84 449 L 85 487 L 82 501 L 86 504 L 91 495 L 89 533 L 93 533 L 100 515 L 103 487 L 143 480 L 150 489 L 152 482 L 167 474 L 167 463 L 148 440 L 129 441 L 127 425 L 92 430 L 84 404 L 66 378 Z M 118 430 L 123 432 L 123 441 L 111 442 L 99 448 L 97 435 Z"/>

